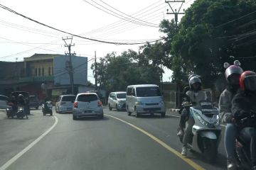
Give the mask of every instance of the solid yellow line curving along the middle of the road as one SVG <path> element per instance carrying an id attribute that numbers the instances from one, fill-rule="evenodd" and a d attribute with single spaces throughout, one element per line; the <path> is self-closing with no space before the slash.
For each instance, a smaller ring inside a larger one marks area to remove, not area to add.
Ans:
<path id="1" fill-rule="evenodd" d="M 105 115 L 107 115 L 107 114 L 105 114 Z M 114 119 L 117 119 L 117 120 L 121 121 L 122 123 L 126 123 L 127 125 L 132 126 L 132 128 L 135 128 L 135 129 L 139 130 L 140 132 L 144 133 L 144 135 L 147 135 L 152 140 L 154 140 L 155 142 L 159 143 L 159 145 L 161 145 L 162 147 L 166 148 L 167 150 L 169 150 L 170 152 L 175 154 L 177 157 L 181 158 L 184 162 L 186 162 L 187 164 L 192 166 L 194 169 L 198 169 L 198 170 L 203 170 L 204 169 L 202 166 L 196 164 L 196 162 L 193 162 L 191 159 L 183 157 L 178 151 L 176 151 L 176 149 L 170 147 L 169 145 L 167 145 L 165 142 L 159 140 L 159 138 L 155 137 L 154 135 L 151 135 L 151 133 L 146 132 L 146 130 L 143 130 L 142 128 L 139 128 L 136 125 L 133 125 L 132 123 L 128 123 L 127 121 L 122 120 L 122 119 L 117 118 L 117 117 L 114 117 L 112 115 L 107 115 L 107 116 L 109 116 L 111 118 L 114 118 Z"/>

